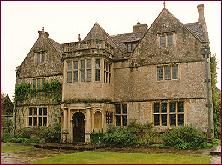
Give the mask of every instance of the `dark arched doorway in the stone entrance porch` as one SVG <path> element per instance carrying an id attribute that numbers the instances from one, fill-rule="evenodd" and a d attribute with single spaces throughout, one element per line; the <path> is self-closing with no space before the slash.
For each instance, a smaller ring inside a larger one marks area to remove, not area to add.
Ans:
<path id="1" fill-rule="evenodd" d="M 85 115 L 76 112 L 72 116 L 73 142 L 85 142 Z"/>

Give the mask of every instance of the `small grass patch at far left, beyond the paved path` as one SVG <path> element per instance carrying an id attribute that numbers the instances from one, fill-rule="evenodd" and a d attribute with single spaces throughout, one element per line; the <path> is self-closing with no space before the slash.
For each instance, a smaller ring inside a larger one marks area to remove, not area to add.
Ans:
<path id="1" fill-rule="evenodd" d="M 1 145 L 2 152 L 20 152 L 20 151 L 30 151 L 34 149 L 33 146 L 24 145 L 24 144 L 16 144 L 16 143 L 3 143 Z"/>

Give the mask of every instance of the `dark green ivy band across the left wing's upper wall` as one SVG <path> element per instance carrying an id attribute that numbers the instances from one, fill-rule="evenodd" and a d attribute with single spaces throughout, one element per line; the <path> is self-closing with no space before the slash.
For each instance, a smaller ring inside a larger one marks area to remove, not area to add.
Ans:
<path id="1" fill-rule="evenodd" d="M 24 102 L 42 94 L 59 103 L 62 99 L 62 84 L 58 80 L 53 80 L 45 82 L 40 89 L 33 89 L 29 83 L 21 83 L 15 86 L 15 100 L 18 102 Z"/>

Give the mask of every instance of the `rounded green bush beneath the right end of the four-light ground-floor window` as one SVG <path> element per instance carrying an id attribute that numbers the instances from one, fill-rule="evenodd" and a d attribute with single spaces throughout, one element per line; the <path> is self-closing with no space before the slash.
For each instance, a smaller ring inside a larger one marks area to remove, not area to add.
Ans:
<path id="1" fill-rule="evenodd" d="M 204 133 L 192 126 L 173 128 L 162 135 L 165 146 L 178 149 L 199 149 L 207 145 Z"/>

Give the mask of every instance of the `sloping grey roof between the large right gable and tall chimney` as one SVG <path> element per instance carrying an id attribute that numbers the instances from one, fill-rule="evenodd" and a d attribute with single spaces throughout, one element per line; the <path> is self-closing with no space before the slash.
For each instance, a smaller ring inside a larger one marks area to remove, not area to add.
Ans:
<path id="1" fill-rule="evenodd" d="M 206 41 L 206 37 L 203 28 L 199 22 L 184 24 L 184 26 L 190 30 L 190 32 L 196 36 L 200 41 Z"/>

